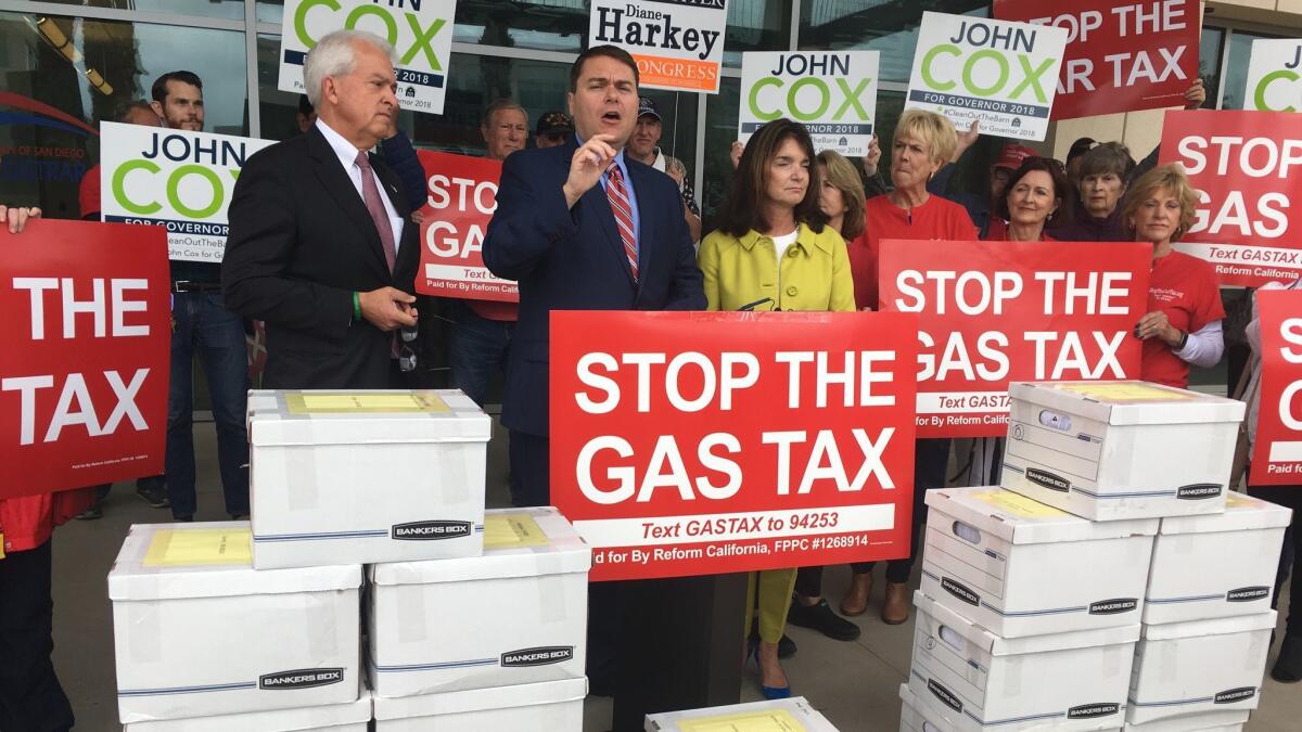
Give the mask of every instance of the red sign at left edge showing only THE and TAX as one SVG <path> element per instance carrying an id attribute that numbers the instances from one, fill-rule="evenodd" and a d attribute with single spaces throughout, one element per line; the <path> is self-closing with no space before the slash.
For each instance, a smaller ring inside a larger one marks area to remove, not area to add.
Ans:
<path id="1" fill-rule="evenodd" d="M 0 499 L 163 472 L 167 229 L 0 227 Z"/>

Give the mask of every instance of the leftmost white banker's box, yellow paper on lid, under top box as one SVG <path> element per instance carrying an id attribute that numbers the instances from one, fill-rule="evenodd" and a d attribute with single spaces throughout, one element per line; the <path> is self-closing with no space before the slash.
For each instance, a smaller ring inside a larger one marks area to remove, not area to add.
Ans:
<path id="1" fill-rule="evenodd" d="M 246 521 L 132 526 L 108 573 L 124 724 L 358 699 L 362 568 L 249 552 Z"/>

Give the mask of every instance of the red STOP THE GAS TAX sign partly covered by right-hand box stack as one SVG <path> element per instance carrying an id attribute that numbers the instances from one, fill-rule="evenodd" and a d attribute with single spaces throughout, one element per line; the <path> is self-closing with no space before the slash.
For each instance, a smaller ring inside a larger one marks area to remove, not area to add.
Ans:
<path id="1" fill-rule="evenodd" d="M 1152 246 L 881 242 L 880 309 L 917 313 L 918 436 L 1008 432 L 1009 382 L 1135 379 Z"/>

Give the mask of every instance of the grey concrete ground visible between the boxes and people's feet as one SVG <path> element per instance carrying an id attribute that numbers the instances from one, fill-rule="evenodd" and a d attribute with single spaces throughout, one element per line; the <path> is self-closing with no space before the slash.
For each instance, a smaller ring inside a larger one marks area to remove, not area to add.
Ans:
<path id="1" fill-rule="evenodd" d="M 506 505 L 506 449 L 497 429 L 488 451 L 488 504 Z M 195 425 L 199 460 L 197 521 L 225 520 L 215 465 L 216 438 L 211 423 Z M 109 567 L 132 524 L 169 521 L 167 509 L 152 509 L 134 495 L 134 485 L 113 486 L 104 518 L 74 521 L 55 538 L 55 664 L 77 712 L 77 729 L 117 729 L 113 672 L 113 623 L 107 595 Z M 880 573 L 880 570 L 879 570 Z M 833 607 L 849 582 L 849 569 L 828 568 L 824 589 Z M 914 578 L 917 584 L 917 577 Z M 855 642 L 837 642 L 790 628 L 799 646 L 784 663 L 796 694 L 805 696 L 842 731 L 887 732 L 900 728 L 897 690 L 906 679 L 913 624 L 889 626 L 875 615 L 884 581 L 878 577 L 870 612 L 855 621 L 863 629 Z M 3 591 L 3 589 L 0 589 Z M 1282 636 L 1282 611 L 1280 636 Z M 1271 654 L 1268 663 L 1273 663 Z M 0 659 L 3 663 L 3 659 Z M 754 666 L 743 676 L 742 701 L 758 701 Z M 1293 722 L 1289 722 L 1289 720 Z M 1302 729 L 1302 685 L 1276 684 L 1268 676 L 1251 732 Z M 585 732 L 609 727 L 611 699 L 591 697 L 585 706 Z M 7 731 L 21 732 L 21 731 Z M 493 731 L 496 732 L 496 731 Z M 503 731 L 505 732 L 505 731 Z"/>

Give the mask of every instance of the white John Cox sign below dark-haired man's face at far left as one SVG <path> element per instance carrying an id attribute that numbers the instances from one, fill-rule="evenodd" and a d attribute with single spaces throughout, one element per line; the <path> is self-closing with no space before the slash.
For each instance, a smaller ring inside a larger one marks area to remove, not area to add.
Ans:
<path id="1" fill-rule="evenodd" d="M 250 155 L 270 139 L 103 122 L 100 216 L 167 227 L 168 258 L 221 262 L 227 208 Z"/>

